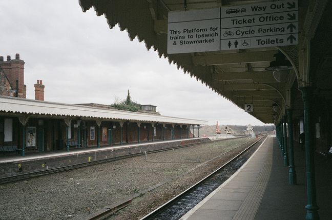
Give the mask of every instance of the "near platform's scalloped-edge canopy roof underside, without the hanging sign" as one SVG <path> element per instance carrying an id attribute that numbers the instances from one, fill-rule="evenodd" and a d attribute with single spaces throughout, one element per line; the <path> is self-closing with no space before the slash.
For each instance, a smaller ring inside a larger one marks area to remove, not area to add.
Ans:
<path id="1" fill-rule="evenodd" d="M 210 52 L 191 52 L 168 54 L 168 13 L 199 9 L 213 9 L 230 6 L 244 6 L 256 3 L 272 2 L 264 0 L 132 0 L 132 1 L 100 1 L 80 0 L 83 11 L 93 7 L 98 16 L 105 15 L 110 28 L 118 25 L 126 30 L 130 39 L 137 37 L 146 44 L 147 49 L 153 48 L 159 56 L 169 59 L 185 73 L 195 77 L 197 81 L 209 86 L 213 91 L 229 99 L 238 107 L 244 109 L 245 104 L 253 104 L 254 111 L 250 112 L 263 123 L 277 124 L 285 110 L 292 107 L 291 88 L 313 86 L 310 74 L 314 74 L 322 61 L 325 67 L 330 59 L 331 43 L 331 3 L 327 0 L 298 0 L 284 1 L 293 4 L 298 2 L 298 45 L 279 47 L 260 47 L 239 50 L 224 50 Z M 275 1 L 278 3 L 278 1 Z M 325 22 L 324 22 L 325 21 Z M 330 23 L 329 23 L 330 24 Z M 321 30 L 326 26 L 325 33 Z M 329 33 L 329 34 L 328 34 Z M 319 41 L 316 41 L 318 38 Z M 314 41 L 313 41 L 314 40 Z M 310 42 L 317 44 L 310 51 Z M 318 45 L 324 42 L 325 46 Z M 319 51 L 320 50 L 320 51 Z M 266 71 L 270 62 L 275 61 L 274 54 L 281 51 L 291 62 L 293 70 L 284 75 L 275 75 Z M 310 59 L 317 56 L 316 59 Z M 310 62 L 312 64 L 310 64 Z M 314 62 L 314 63 L 313 63 Z M 148 63 L 148 61 L 147 61 Z M 310 69 L 310 65 L 315 69 Z M 329 65 L 329 66 L 328 66 Z M 319 73 L 323 74 L 323 73 Z M 326 75 L 326 74 L 325 74 Z M 326 75 L 331 82 L 331 74 Z M 322 78 L 322 75 L 317 75 Z M 279 79 L 280 82 L 278 82 Z M 317 81 L 317 88 L 325 92 L 321 95 L 331 95 L 326 89 L 325 80 Z M 275 108 L 273 108 L 275 106 Z M 276 110 L 276 111 L 275 111 Z"/>

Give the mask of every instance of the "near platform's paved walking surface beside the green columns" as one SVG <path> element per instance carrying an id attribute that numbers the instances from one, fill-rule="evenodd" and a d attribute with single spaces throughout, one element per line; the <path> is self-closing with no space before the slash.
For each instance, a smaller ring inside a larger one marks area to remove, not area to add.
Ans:
<path id="1" fill-rule="evenodd" d="M 320 219 L 332 219 L 332 162 L 315 154 L 315 163 Z M 298 182 L 289 185 L 276 137 L 269 136 L 231 178 L 180 219 L 305 219 L 305 157 L 299 147 L 295 165 Z"/>

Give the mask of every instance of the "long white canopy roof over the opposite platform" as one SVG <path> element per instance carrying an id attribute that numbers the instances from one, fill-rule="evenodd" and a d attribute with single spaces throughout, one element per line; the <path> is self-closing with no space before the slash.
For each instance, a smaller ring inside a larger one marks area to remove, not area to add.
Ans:
<path id="1" fill-rule="evenodd" d="M 196 119 L 170 117 L 158 114 L 130 112 L 82 105 L 35 101 L 33 99 L 26 98 L 0 96 L 0 115 L 10 115 L 10 113 L 12 116 L 18 117 L 79 117 L 86 119 L 103 119 L 105 121 L 129 121 L 181 125 L 203 125 L 208 123 L 206 121 Z"/>

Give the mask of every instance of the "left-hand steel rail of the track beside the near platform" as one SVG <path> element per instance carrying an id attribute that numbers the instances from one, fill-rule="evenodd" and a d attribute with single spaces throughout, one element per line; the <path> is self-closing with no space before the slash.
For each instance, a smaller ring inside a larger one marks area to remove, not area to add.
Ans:
<path id="1" fill-rule="evenodd" d="M 189 194 L 189 192 L 191 192 L 192 190 L 196 189 L 199 185 L 201 185 L 202 183 L 204 183 L 206 180 L 212 178 L 214 175 L 216 175 L 218 172 L 220 172 L 223 168 L 225 168 L 226 166 L 228 166 L 231 162 L 233 162 L 235 159 L 237 159 L 240 155 L 242 155 L 244 152 L 246 152 L 248 149 L 250 149 L 251 147 L 253 147 L 255 144 L 257 144 L 259 141 L 261 141 L 261 139 L 266 138 L 267 135 L 261 137 L 258 139 L 258 141 L 256 141 L 255 143 L 253 143 L 252 145 L 248 146 L 247 148 L 245 148 L 242 152 L 240 152 L 239 154 L 237 154 L 235 157 L 233 157 L 229 162 L 225 163 L 224 165 L 222 165 L 221 167 L 219 167 L 218 169 L 216 169 L 215 171 L 213 171 L 212 173 L 210 173 L 209 175 L 205 176 L 203 179 L 201 179 L 199 182 L 197 182 L 196 184 L 192 185 L 191 187 L 189 187 L 188 189 L 184 190 L 183 192 L 181 192 L 180 194 L 178 194 L 177 196 L 173 197 L 170 201 L 164 203 L 163 205 L 159 206 L 157 209 L 153 210 L 152 212 L 150 212 L 149 214 L 145 215 L 144 217 L 140 218 L 140 220 L 147 220 L 147 219 L 153 219 L 153 217 L 155 215 L 157 215 L 158 213 L 160 213 L 163 209 L 166 209 L 167 207 L 169 207 L 176 199 L 183 197 L 187 194 Z"/>

